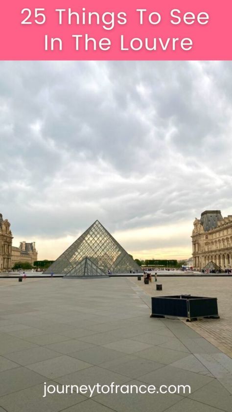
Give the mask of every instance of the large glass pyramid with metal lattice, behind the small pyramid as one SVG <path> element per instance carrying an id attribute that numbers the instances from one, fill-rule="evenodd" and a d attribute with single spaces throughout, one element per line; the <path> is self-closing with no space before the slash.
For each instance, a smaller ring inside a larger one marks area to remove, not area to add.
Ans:
<path id="1" fill-rule="evenodd" d="M 104 273 L 142 273 L 139 265 L 98 220 L 62 253 L 45 273 L 67 275 L 86 257 Z"/>

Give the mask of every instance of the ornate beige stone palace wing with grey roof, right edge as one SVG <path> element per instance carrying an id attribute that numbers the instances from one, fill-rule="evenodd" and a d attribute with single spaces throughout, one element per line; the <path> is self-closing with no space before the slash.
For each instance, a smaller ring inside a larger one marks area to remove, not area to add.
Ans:
<path id="1" fill-rule="evenodd" d="M 195 219 L 192 231 L 193 267 L 202 270 L 210 261 L 223 271 L 232 267 L 232 215 L 206 210 Z"/>

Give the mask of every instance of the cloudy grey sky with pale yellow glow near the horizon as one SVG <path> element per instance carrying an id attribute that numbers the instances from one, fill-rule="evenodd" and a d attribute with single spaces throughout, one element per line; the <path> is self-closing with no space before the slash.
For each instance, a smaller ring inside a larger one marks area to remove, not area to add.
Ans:
<path id="1" fill-rule="evenodd" d="M 186 258 L 232 214 L 232 62 L 1 62 L 0 213 L 55 259 L 96 219 L 134 258 Z"/>

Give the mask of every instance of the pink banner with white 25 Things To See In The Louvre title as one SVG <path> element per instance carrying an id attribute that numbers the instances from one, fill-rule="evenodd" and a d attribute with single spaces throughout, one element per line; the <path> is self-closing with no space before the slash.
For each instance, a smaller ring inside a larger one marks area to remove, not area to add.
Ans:
<path id="1" fill-rule="evenodd" d="M 232 2 L 8 0 L 1 60 L 231 60 Z"/>

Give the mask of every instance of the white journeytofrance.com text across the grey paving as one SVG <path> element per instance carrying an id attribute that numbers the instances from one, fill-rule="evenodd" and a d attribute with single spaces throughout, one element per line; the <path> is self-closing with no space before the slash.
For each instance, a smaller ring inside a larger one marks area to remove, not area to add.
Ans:
<path id="1" fill-rule="evenodd" d="M 96 383 L 95 385 L 47 385 L 44 383 L 44 395 L 47 394 L 65 394 L 65 393 L 80 393 L 82 395 L 88 394 L 91 398 L 95 394 L 100 393 L 123 393 L 123 394 L 144 394 L 144 393 L 191 393 L 191 388 L 189 385 L 161 385 L 156 387 L 155 385 L 116 385 L 115 382 L 111 382 L 109 385 L 100 385 Z"/>

